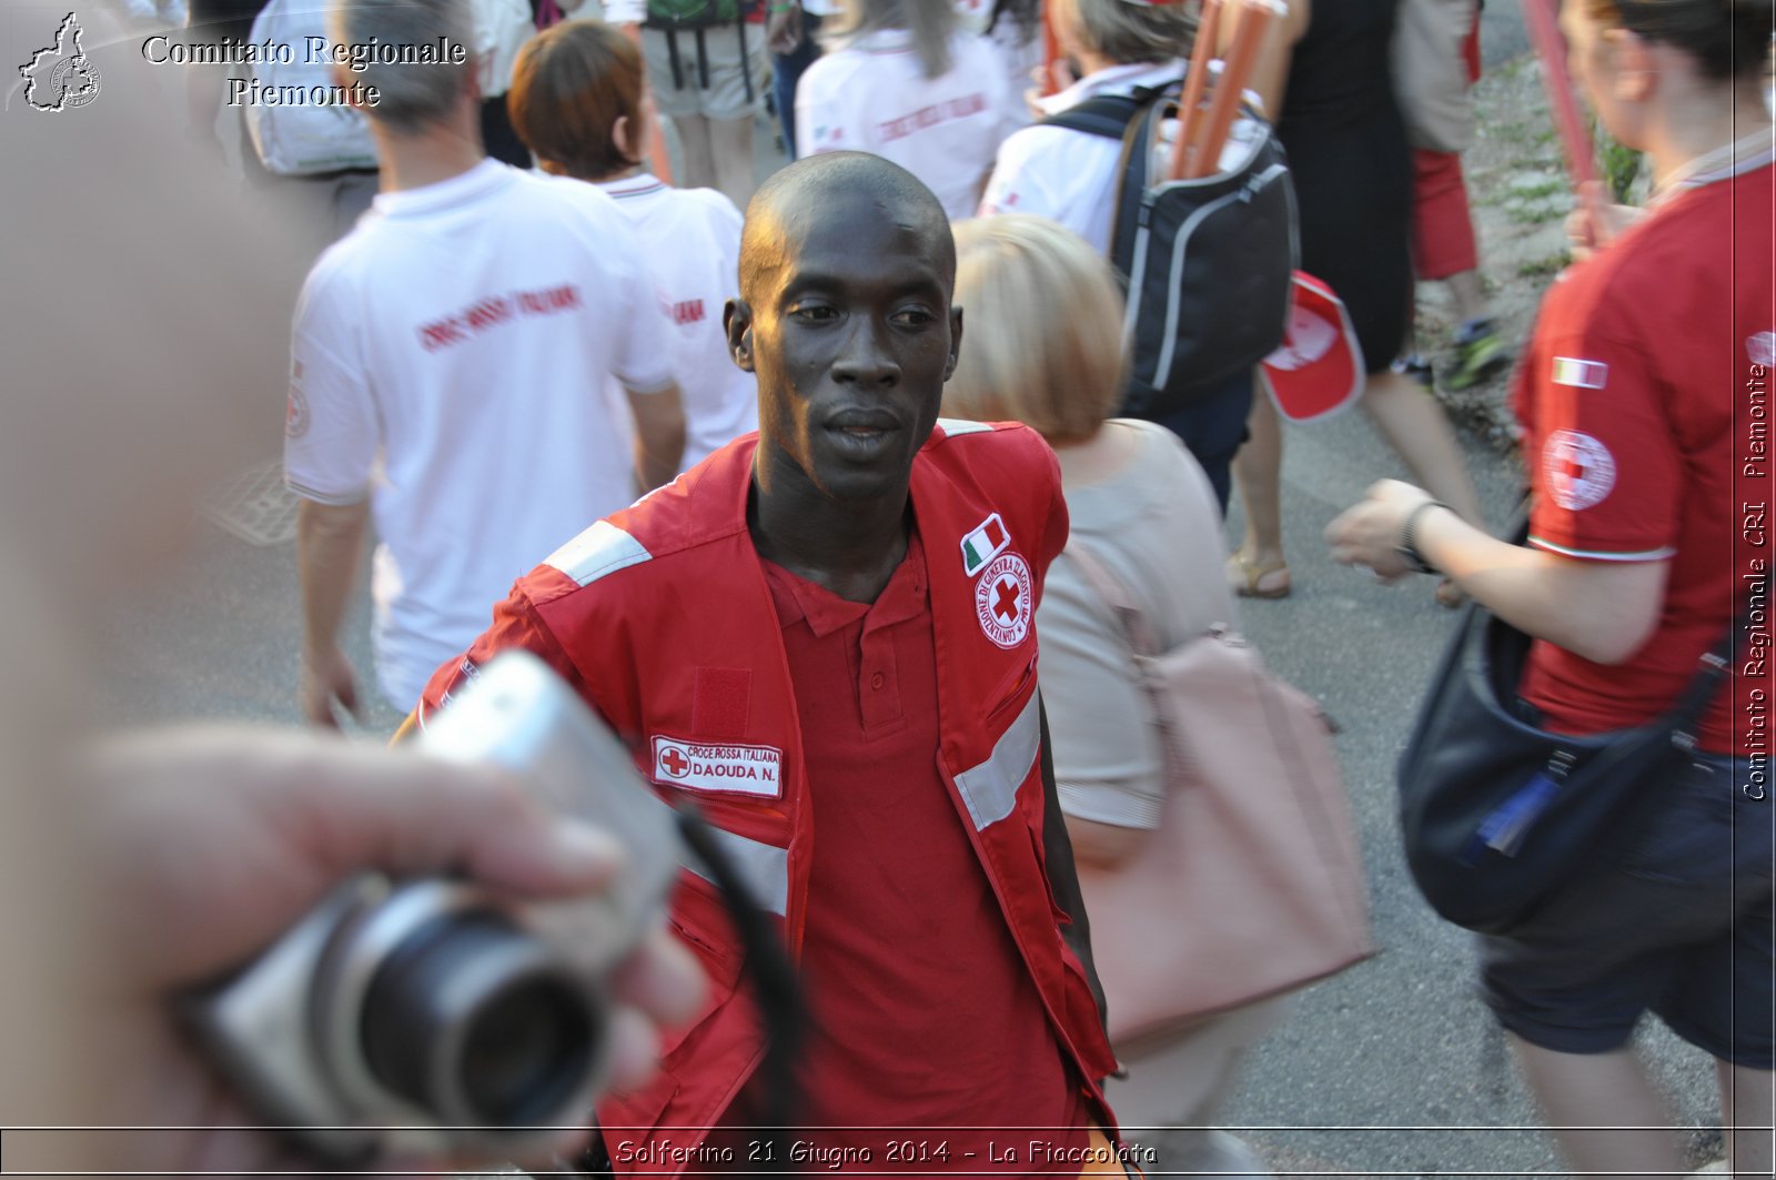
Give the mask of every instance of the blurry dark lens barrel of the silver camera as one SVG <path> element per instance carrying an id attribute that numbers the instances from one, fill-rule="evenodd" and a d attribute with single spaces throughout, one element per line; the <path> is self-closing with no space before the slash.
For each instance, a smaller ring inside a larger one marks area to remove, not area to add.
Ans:
<path id="1" fill-rule="evenodd" d="M 602 1013 L 543 944 L 492 912 L 414 928 L 364 995 L 364 1061 L 442 1127 L 526 1127 L 588 1080 Z"/>

